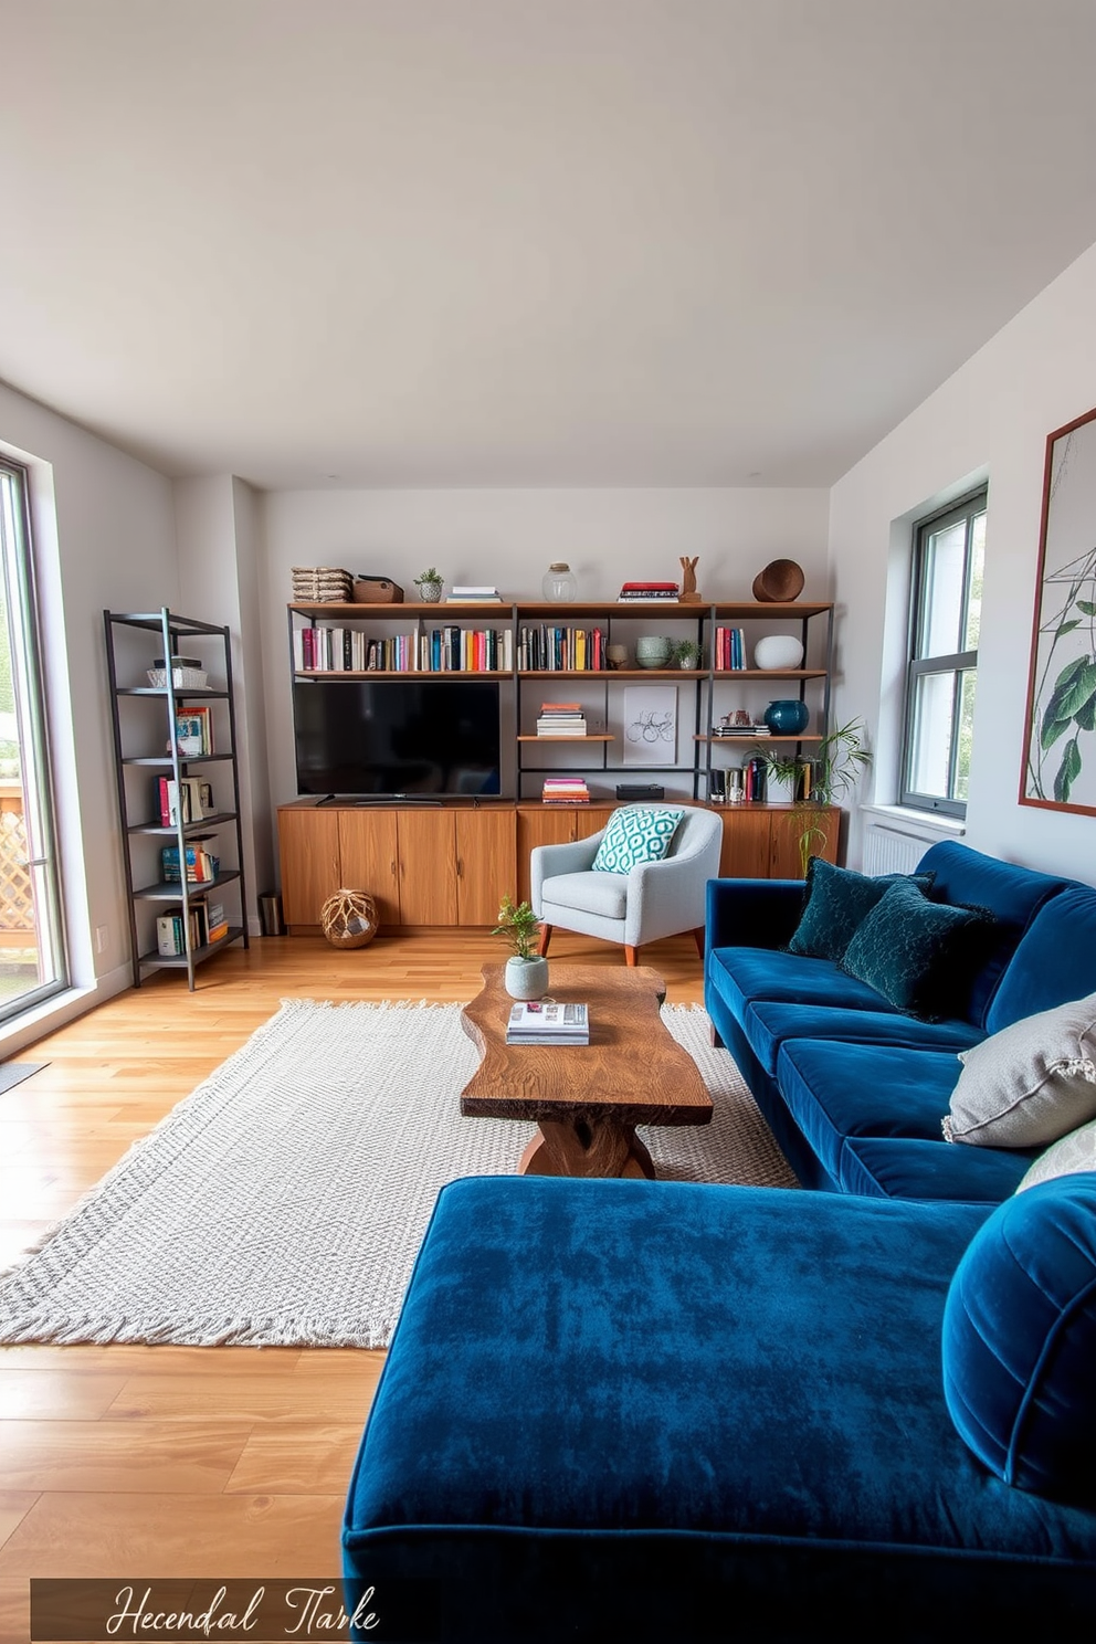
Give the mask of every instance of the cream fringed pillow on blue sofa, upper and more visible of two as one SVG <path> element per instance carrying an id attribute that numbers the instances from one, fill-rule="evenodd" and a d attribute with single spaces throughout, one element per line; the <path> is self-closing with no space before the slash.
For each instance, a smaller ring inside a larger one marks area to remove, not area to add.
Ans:
<path id="1" fill-rule="evenodd" d="M 1038 1148 L 1096 1118 L 1096 993 L 1025 1016 L 960 1052 L 948 1141 Z"/>

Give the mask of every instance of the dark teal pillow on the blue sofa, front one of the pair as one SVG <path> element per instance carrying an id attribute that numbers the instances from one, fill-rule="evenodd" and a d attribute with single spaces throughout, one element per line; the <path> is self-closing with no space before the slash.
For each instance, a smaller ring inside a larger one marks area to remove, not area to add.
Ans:
<path id="1" fill-rule="evenodd" d="M 917 884 L 899 880 L 853 935 L 841 968 L 899 1011 L 930 1021 L 960 1016 L 969 998 L 974 937 L 991 924 L 981 907 L 930 903 Z"/>

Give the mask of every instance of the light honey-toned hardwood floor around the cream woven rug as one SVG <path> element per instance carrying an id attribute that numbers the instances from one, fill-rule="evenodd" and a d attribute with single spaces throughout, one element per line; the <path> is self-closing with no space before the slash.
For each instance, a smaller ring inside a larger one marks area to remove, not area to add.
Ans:
<path id="1" fill-rule="evenodd" d="M 0 1268 L 26 1249 L 283 998 L 465 1001 L 504 949 L 478 932 L 338 952 L 230 949 L 187 993 L 153 977 L 20 1052 L 0 1095 Z M 564 931 L 552 962 L 621 965 Z M 654 944 L 670 1003 L 702 1000 L 692 935 Z M 0 1641 L 28 1637 L 31 1577 L 337 1575 L 338 1527 L 383 1353 L 0 1348 Z"/>

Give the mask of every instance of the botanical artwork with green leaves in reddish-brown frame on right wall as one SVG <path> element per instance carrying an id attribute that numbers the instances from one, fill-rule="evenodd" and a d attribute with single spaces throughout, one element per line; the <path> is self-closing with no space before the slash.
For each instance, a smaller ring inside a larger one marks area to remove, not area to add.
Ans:
<path id="1" fill-rule="evenodd" d="M 1096 815 L 1096 409 L 1047 437 L 1020 804 Z"/>

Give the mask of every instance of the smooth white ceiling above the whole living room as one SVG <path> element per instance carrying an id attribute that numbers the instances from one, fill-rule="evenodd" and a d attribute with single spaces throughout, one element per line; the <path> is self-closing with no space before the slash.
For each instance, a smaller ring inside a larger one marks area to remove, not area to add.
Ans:
<path id="1" fill-rule="evenodd" d="M 0 378 L 169 473 L 825 485 L 1096 240 L 1093 0 L 0 0 Z"/>

